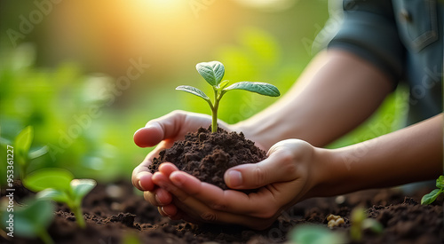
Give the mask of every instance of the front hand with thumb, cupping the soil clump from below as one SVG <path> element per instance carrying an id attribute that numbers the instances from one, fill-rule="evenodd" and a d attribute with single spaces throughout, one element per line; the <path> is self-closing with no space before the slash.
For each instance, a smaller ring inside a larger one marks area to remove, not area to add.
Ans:
<path id="1" fill-rule="evenodd" d="M 305 141 L 289 139 L 272 146 L 264 161 L 228 169 L 225 181 L 230 188 L 260 187 L 258 193 L 248 195 L 201 182 L 168 162 L 152 180 L 173 195 L 177 208 L 163 208 L 163 214 L 172 219 L 262 230 L 273 224 L 281 211 L 309 196 L 320 179 L 321 151 Z"/>

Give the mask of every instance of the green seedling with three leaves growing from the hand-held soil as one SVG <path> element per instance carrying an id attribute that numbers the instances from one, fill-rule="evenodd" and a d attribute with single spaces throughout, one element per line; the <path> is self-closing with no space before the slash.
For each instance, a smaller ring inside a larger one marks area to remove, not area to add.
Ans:
<path id="1" fill-rule="evenodd" d="M 281 92 L 274 85 L 269 83 L 240 82 L 228 86 L 229 82 L 227 80 L 222 81 L 222 78 L 225 75 L 225 67 L 218 61 L 198 63 L 196 69 L 197 72 L 202 75 L 203 79 L 212 86 L 214 91 L 213 101 L 211 101 L 203 91 L 192 86 L 180 85 L 176 90 L 189 92 L 207 101 L 210 105 L 212 115 L 212 132 L 218 131 L 218 106 L 220 99 L 225 95 L 226 91 L 252 91 L 270 97 L 279 97 L 281 95 Z"/>

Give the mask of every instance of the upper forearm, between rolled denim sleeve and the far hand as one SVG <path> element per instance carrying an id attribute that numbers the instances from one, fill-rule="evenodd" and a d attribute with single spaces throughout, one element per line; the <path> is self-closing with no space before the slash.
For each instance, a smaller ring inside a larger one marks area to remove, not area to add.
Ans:
<path id="1" fill-rule="evenodd" d="M 287 94 L 239 130 L 269 148 L 287 138 L 325 146 L 366 120 L 392 90 L 388 78 L 344 51 L 324 51 Z"/>

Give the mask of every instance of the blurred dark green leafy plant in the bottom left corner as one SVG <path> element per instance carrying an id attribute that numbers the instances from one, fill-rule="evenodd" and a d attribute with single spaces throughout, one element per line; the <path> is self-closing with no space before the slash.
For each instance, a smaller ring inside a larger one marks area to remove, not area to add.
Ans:
<path id="1" fill-rule="evenodd" d="M 13 212 L 2 213 L 2 224 L 8 236 L 14 235 L 25 238 L 40 238 L 44 243 L 53 243 L 46 229 L 54 218 L 54 204 L 46 200 L 26 201 L 25 205 L 17 207 Z"/>

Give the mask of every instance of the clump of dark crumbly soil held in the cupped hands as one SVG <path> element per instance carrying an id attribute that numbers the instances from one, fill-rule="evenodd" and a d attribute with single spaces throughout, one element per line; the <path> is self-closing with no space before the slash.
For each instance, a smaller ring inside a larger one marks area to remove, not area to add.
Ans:
<path id="1" fill-rule="evenodd" d="M 226 169 L 243 163 L 256 163 L 266 159 L 266 152 L 246 139 L 242 132 L 227 132 L 218 128 L 200 128 L 187 133 L 184 140 L 176 141 L 169 149 L 159 153 L 149 169 L 154 173 L 165 161 L 175 164 L 178 169 L 226 190 L 224 182 Z"/>

